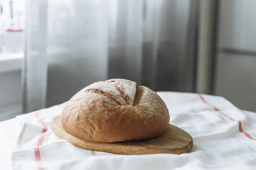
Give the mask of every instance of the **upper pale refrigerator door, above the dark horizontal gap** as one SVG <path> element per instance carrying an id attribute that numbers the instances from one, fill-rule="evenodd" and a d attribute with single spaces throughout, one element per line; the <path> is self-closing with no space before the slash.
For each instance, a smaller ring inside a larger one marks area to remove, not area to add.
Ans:
<path id="1" fill-rule="evenodd" d="M 220 0 L 218 48 L 256 51 L 256 0 Z"/>

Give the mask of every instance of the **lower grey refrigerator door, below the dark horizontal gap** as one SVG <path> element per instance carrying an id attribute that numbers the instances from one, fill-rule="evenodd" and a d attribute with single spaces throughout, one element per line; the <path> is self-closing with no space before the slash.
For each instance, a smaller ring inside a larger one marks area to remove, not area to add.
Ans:
<path id="1" fill-rule="evenodd" d="M 214 94 L 237 107 L 256 111 L 256 56 L 218 54 Z"/>

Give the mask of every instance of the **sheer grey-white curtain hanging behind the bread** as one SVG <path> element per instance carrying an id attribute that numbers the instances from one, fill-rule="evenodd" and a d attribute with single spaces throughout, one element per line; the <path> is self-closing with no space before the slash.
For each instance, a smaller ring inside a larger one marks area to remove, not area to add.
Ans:
<path id="1" fill-rule="evenodd" d="M 23 112 L 110 78 L 193 91 L 196 0 L 26 0 Z"/>

